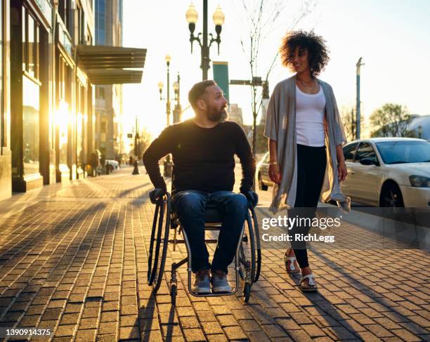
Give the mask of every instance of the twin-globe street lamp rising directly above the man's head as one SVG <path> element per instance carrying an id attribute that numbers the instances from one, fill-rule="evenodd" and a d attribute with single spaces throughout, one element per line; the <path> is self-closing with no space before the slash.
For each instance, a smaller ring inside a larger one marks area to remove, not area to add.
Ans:
<path id="1" fill-rule="evenodd" d="M 216 43 L 218 45 L 218 54 L 219 54 L 219 44 L 221 43 L 221 30 L 222 25 L 224 23 L 224 19 L 226 18 L 223 11 L 221 11 L 221 7 L 217 7 L 212 18 L 215 24 L 215 32 L 216 38 L 214 38 L 213 34 L 209 34 L 211 37 L 208 42 L 208 34 L 207 34 L 207 0 L 203 0 L 203 34 L 199 33 L 197 36 L 194 35 L 195 23 L 197 22 L 198 13 L 195 10 L 195 6 L 193 3 L 188 7 L 188 11 L 185 13 L 185 17 L 188 22 L 188 29 L 190 29 L 190 43 L 191 43 L 191 53 L 193 53 L 193 41 L 197 41 L 200 45 L 200 49 L 202 51 L 202 64 L 200 67 L 202 68 L 202 79 L 203 81 L 207 79 L 207 72 L 209 70 L 209 48 L 212 43 Z M 200 39 L 202 36 L 202 39 Z"/>

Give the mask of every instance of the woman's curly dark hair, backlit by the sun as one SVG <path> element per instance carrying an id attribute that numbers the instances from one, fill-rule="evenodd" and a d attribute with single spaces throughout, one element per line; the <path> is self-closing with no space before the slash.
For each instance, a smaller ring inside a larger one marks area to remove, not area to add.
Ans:
<path id="1" fill-rule="evenodd" d="M 311 77 L 317 77 L 330 60 L 328 55 L 330 51 L 325 46 L 325 39 L 316 35 L 313 31 L 299 30 L 285 34 L 282 37 L 282 44 L 279 48 L 281 62 L 284 67 L 292 68 L 292 57 L 297 47 L 308 51 Z"/>

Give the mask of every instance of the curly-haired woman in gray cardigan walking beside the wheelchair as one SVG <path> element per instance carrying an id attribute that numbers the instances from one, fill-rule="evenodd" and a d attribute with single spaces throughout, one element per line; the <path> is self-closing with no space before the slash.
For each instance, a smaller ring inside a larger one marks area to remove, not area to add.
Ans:
<path id="1" fill-rule="evenodd" d="M 323 202 L 349 205 L 339 185 L 346 177 L 346 138 L 332 87 L 317 78 L 329 60 L 324 39 L 314 32 L 291 32 L 282 39 L 280 56 L 282 65 L 296 74 L 275 86 L 268 104 L 264 135 L 269 140 L 269 177 L 275 183 L 270 210 L 288 209 L 289 217 L 312 221 L 320 195 Z M 294 225 L 289 230 L 292 247 L 284 256 L 288 273 L 301 268 L 302 291 L 316 291 L 317 284 L 306 242 L 293 237 L 307 235 L 310 228 Z"/>

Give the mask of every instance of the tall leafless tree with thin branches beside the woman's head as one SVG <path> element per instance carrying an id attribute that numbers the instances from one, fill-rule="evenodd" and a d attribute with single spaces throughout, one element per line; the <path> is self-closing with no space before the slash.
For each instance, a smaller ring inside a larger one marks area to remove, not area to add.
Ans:
<path id="1" fill-rule="evenodd" d="M 266 49 L 264 49 L 264 41 L 273 32 L 275 27 L 279 25 L 279 19 L 287 5 L 289 8 L 297 8 L 297 3 L 300 1 L 285 1 L 285 0 L 242 0 L 242 8 L 245 13 L 245 20 L 248 24 L 246 39 L 240 39 L 242 51 L 247 55 L 249 71 L 251 72 L 251 79 L 255 80 L 258 75 L 261 77 L 263 84 L 268 84 L 268 77 L 275 66 L 279 53 L 273 53 L 273 58 L 269 60 L 269 64 L 263 68 L 262 58 L 267 58 Z M 296 14 L 292 14 L 289 23 L 285 25 L 285 32 L 288 32 L 304 18 L 306 15 L 313 11 L 315 8 L 315 0 L 301 0 L 299 10 Z M 262 70 L 261 70 L 262 69 Z M 263 105 L 263 92 L 259 91 L 258 87 L 261 83 L 252 81 L 252 117 L 253 117 L 253 130 L 252 130 L 252 152 L 256 152 L 256 117 Z M 268 93 L 268 91 L 266 91 Z M 268 94 L 266 94 L 268 96 Z"/>

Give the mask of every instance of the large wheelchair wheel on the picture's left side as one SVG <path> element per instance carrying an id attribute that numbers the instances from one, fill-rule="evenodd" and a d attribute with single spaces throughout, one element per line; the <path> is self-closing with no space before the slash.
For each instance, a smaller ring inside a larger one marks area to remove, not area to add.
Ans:
<path id="1" fill-rule="evenodd" d="M 148 285 L 157 292 L 163 278 L 164 263 L 167 256 L 167 245 L 169 243 L 171 214 L 171 199 L 167 194 L 159 198 L 155 206 L 154 221 L 150 240 L 150 251 L 148 256 Z M 162 236 L 164 233 L 164 236 Z M 161 254 L 160 254 L 161 252 Z"/>

